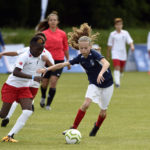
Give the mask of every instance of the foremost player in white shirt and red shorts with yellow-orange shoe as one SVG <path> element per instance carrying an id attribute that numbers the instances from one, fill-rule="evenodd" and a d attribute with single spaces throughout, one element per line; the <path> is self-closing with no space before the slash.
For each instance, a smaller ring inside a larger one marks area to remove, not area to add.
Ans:
<path id="1" fill-rule="evenodd" d="M 0 118 L 7 116 L 14 101 L 17 101 L 22 108 L 22 114 L 8 133 L 8 136 L 2 139 L 3 142 L 18 142 L 13 136 L 23 128 L 28 118 L 32 115 L 33 94 L 30 90 L 30 84 L 31 80 L 40 82 L 42 79 L 40 75 L 35 75 L 44 44 L 45 41 L 41 37 L 33 37 L 31 39 L 30 50 L 19 56 L 13 73 L 9 75 L 2 87 L 1 96 L 3 104 Z"/>

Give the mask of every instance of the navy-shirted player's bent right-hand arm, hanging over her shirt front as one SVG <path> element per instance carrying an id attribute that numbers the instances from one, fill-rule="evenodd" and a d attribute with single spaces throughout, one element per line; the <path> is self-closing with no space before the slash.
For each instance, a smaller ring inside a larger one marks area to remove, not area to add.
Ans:
<path id="1" fill-rule="evenodd" d="M 98 84 L 101 84 L 102 82 L 104 82 L 105 79 L 103 77 L 103 74 L 107 71 L 107 69 L 110 66 L 109 62 L 105 58 L 102 58 L 100 62 L 102 63 L 102 70 L 100 71 L 97 77 Z"/>

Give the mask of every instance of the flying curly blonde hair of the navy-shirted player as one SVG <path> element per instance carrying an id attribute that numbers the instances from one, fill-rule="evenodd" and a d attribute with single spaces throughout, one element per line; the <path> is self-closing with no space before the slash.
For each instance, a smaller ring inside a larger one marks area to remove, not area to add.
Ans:
<path id="1" fill-rule="evenodd" d="M 92 34 L 92 28 L 87 23 L 81 24 L 79 29 L 73 27 L 72 30 L 72 32 L 68 33 L 68 43 L 71 47 L 77 50 L 79 50 L 79 42 L 88 41 L 92 44 L 95 40 L 97 40 L 99 35 L 98 32 Z"/>

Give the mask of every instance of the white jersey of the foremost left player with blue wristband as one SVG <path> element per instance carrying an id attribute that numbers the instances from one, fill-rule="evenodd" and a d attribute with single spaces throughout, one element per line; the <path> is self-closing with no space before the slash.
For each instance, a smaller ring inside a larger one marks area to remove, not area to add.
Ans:
<path id="1" fill-rule="evenodd" d="M 28 75 L 34 75 L 37 70 L 37 65 L 40 63 L 40 56 L 33 57 L 30 51 L 21 54 L 15 64 L 15 67 L 20 68 L 22 73 Z M 29 87 L 31 79 L 20 78 L 13 75 L 9 75 L 6 83 L 14 87 Z"/>

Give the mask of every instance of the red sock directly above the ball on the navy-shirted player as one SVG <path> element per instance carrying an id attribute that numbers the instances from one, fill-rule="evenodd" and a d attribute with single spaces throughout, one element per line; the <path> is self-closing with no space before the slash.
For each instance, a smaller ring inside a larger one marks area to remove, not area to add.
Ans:
<path id="1" fill-rule="evenodd" d="M 73 123 L 73 128 L 76 129 L 78 127 L 78 125 L 80 124 L 81 120 L 83 119 L 85 115 L 85 112 L 82 111 L 81 109 L 78 110 L 78 113 L 76 115 L 76 118 L 74 120 L 74 123 Z"/>

